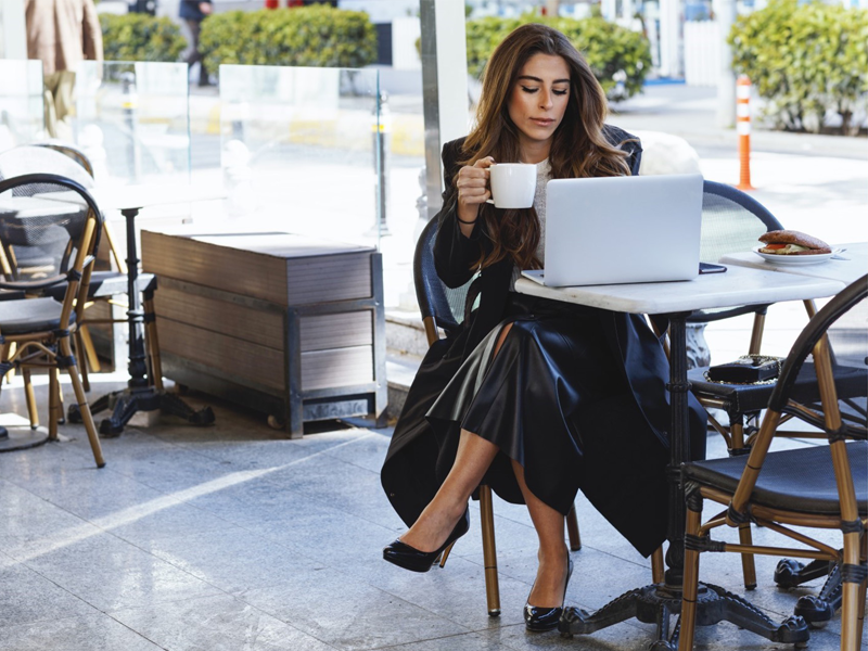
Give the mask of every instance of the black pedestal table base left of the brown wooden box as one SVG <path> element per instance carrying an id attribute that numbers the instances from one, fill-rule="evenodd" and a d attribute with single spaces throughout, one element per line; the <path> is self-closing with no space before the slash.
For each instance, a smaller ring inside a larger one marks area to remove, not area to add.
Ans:
<path id="1" fill-rule="evenodd" d="M 110 393 L 90 405 L 91 413 L 112 409 L 112 416 L 100 422 L 100 434 L 117 436 L 137 411 L 171 413 L 187 419 L 194 425 L 214 423 L 214 411 L 205 407 L 195 411 L 177 395 L 156 388 L 145 378 L 148 365 L 144 355 L 144 311 L 139 296 L 139 254 L 136 245 L 136 216 L 139 208 L 125 208 L 120 214 L 127 220 L 127 294 L 129 297 L 129 382 L 127 388 Z M 149 291 L 153 291 L 151 288 Z M 81 422 L 78 405 L 71 405 L 67 412 L 71 422 Z"/>

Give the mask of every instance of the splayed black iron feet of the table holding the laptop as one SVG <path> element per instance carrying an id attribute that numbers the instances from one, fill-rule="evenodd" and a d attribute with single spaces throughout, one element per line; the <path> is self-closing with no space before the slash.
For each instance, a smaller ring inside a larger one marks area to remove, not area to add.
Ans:
<path id="1" fill-rule="evenodd" d="M 561 636 L 588 635 L 613 624 L 636 617 L 646 624 L 656 624 L 656 640 L 650 651 L 675 651 L 678 649 L 680 620 L 669 631 L 669 620 L 681 612 L 680 587 L 665 584 L 646 586 L 630 590 L 610 601 L 593 614 L 583 609 L 564 609 L 558 629 Z M 797 616 L 787 617 L 780 624 L 748 600 L 719 586 L 700 584 L 697 596 L 697 626 L 712 626 L 718 622 L 730 622 L 773 642 L 806 643 L 809 638 L 807 623 Z"/>

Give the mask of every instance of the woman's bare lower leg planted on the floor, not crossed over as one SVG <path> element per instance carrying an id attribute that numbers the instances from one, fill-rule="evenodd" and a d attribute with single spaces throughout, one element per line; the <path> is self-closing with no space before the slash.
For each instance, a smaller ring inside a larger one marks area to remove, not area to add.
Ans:
<path id="1" fill-rule="evenodd" d="M 537 608 L 561 607 L 570 553 L 564 541 L 564 516 L 531 493 L 524 481 L 524 468 L 518 461 L 512 461 L 512 470 L 539 537 L 539 567 L 527 603 Z"/>

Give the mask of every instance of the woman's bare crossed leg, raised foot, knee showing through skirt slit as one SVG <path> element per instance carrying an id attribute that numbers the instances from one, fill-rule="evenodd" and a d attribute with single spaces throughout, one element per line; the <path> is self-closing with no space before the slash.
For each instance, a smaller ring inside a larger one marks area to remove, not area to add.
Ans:
<path id="1" fill-rule="evenodd" d="M 500 331 L 494 355 L 507 339 L 512 323 Z M 468 500 L 480 485 L 485 471 L 494 461 L 499 448 L 473 432 L 461 430 L 458 452 L 452 468 L 425 510 L 400 540 L 419 551 L 434 551 L 446 541 L 468 506 Z"/>

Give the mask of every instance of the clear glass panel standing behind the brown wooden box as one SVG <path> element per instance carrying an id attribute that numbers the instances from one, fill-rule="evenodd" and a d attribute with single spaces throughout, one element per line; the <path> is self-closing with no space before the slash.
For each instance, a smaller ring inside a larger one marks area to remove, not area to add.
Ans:
<path id="1" fill-rule="evenodd" d="M 379 73 L 220 66 L 227 216 L 379 246 Z"/>

